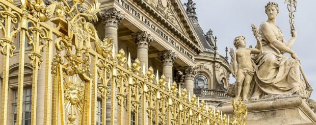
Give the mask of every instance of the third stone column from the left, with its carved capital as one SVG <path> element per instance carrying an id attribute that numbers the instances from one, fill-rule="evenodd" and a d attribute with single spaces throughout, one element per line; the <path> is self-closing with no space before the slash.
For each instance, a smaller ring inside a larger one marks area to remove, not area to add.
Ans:
<path id="1" fill-rule="evenodd" d="M 169 51 L 164 51 L 163 53 L 159 53 L 159 56 L 163 62 L 163 74 L 166 77 L 166 82 L 168 83 L 169 78 L 170 78 L 170 85 L 172 84 L 172 66 L 174 63 L 174 60 L 177 58 L 177 55 L 172 52 L 171 50 Z"/>

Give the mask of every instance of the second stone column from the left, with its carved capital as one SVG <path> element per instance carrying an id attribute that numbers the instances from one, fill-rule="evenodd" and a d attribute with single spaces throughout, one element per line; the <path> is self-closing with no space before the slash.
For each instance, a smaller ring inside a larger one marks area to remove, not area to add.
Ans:
<path id="1" fill-rule="evenodd" d="M 145 70 L 148 70 L 148 47 L 153 37 L 147 34 L 146 31 L 134 33 L 132 36 L 135 39 L 137 45 L 137 58 L 140 61 L 140 66 L 143 67 L 145 64 Z"/>

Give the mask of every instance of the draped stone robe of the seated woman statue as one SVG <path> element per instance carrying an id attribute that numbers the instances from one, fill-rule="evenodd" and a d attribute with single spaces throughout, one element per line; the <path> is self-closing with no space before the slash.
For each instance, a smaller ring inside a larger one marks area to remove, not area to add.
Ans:
<path id="1" fill-rule="evenodd" d="M 302 90 L 301 92 L 305 94 L 303 92 L 305 84 L 300 78 L 299 62 L 283 56 L 279 49 L 265 38 L 261 26 L 259 34 L 262 37 L 263 52 L 254 59 L 258 69 L 254 74 L 248 96 L 258 95 L 261 98 L 267 94 L 289 94 L 297 90 Z M 280 29 L 275 36 L 285 43 Z"/>

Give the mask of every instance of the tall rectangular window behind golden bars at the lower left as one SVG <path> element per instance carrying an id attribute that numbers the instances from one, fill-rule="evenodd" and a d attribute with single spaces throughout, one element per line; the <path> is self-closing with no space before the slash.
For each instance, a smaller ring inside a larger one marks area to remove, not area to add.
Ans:
<path id="1" fill-rule="evenodd" d="M 13 90 L 14 103 L 13 106 L 13 124 L 16 124 L 17 120 L 17 89 Z M 32 105 L 32 87 L 23 89 L 23 107 L 22 107 L 22 124 L 31 124 L 31 105 Z"/>

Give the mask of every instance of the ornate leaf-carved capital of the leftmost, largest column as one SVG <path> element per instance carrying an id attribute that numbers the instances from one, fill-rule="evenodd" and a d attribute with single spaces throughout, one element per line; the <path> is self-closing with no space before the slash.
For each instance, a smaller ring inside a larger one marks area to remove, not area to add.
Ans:
<path id="1" fill-rule="evenodd" d="M 104 24 L 106 24 L 106 27 L 118 28 L 117 26 L 124 19 L 124 14 L 116 8 L 106 9 L 104 12 L 100 12 L 100 16 Z"/>

